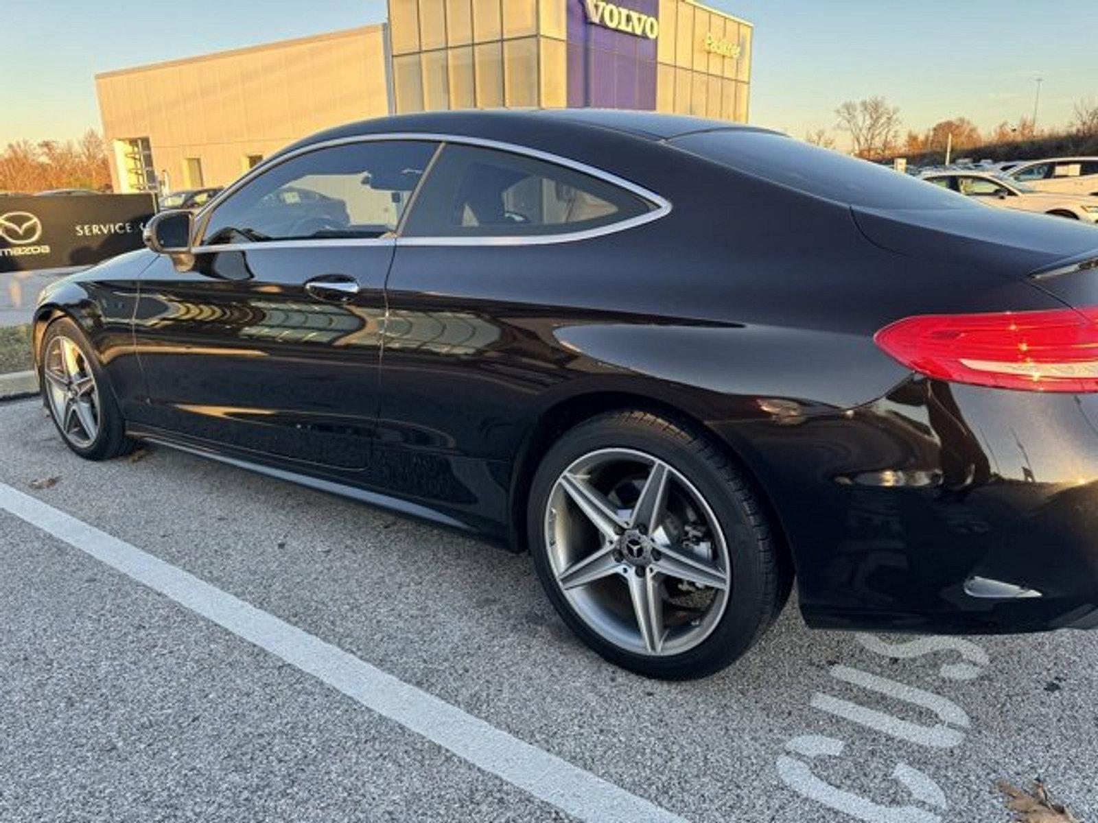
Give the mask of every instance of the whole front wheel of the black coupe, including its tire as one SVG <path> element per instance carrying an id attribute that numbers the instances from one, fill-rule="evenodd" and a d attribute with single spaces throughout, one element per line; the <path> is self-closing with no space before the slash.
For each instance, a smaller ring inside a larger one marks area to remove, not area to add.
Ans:
<path id="1" fill-rule="evenodd" d="M 66 446 L 88 460 L 109 460 L 133 450 L 125 421 L 87 338 L 61 318 L 42 339 L 40 382 L 49 416 Z"/>

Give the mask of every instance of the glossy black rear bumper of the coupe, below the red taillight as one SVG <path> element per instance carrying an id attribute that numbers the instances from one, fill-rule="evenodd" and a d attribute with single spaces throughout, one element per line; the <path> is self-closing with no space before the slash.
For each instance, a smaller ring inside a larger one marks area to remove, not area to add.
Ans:
<path id="1" fill-rule="evenodd" d="M 1098 395 L 918 379 L 726 433 L 777 510 L 810 625 L 1098 628 Z"/>

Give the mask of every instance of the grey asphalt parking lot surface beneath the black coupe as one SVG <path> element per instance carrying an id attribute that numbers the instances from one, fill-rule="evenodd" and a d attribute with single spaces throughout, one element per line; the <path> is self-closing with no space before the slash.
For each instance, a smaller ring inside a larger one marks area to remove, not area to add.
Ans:
<path id="1" fill-rule="evenodd" d="M 3 821 L 972 823 L 1038 776 L 1098 820 L 1098 633 L 788 608 L 645 680 L 528 556 L 163 448 L 86 463 L 34 401 L 0 405 L 0 620 Z"/>

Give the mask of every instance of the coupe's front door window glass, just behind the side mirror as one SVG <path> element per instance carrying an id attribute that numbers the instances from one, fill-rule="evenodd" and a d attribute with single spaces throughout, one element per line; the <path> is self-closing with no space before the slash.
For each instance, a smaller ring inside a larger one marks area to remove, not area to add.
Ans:
<path id="1" fill-rule="evenodd" d="M 436 148 L 374 140 L 299 155 L 219 205 L 202 245 L 381 237 L 396 228 Z"/>

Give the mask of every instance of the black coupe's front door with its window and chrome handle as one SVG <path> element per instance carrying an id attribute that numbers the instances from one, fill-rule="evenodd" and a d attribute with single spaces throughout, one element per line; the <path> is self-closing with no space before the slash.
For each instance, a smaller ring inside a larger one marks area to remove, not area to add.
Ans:
<path id="1" fill-rule="evenodd" d="M 139 422 L 306 470 L 366 469 L 390 235 L 436 149 L 306 148 L 203 213 L 193 266 L 163 258 L 142 282 Z"/>

